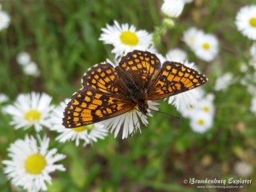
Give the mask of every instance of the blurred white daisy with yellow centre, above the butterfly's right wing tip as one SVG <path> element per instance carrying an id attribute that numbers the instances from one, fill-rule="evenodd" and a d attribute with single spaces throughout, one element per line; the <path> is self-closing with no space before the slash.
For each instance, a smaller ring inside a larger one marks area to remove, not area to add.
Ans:
<path id="1" fill-rule="evenodd" d="M 212 61 L 218 55 L 218 39 L 212 34 L 201 34 L 195 39 L 193 50 L 201 60 Z"/>

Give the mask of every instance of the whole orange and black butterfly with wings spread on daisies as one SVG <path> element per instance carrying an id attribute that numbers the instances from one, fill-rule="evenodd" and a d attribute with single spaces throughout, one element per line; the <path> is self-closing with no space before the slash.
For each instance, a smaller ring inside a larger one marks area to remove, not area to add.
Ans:
<path id="1" fill-rule="evenodd" d="M 97 64 L 84 73 L 82 89 L 64 111 L 63 125 L 90 125 L 137 109 L 148 113 L 148 101 L 174 96 L 207 82 L 205 75 L 178 62 L 162 66 L 156 55 L 134 50 L 119 62 Z"/>

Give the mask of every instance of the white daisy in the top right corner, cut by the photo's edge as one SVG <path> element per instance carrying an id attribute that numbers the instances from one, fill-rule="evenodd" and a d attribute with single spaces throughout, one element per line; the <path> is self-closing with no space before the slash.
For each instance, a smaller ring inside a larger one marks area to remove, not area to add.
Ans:
<path id="1" fill-rule="evenodd" d="M 244 36 L 256 40 L 256 5 L 245 6 L 239 10 L 236 26 Z"/>

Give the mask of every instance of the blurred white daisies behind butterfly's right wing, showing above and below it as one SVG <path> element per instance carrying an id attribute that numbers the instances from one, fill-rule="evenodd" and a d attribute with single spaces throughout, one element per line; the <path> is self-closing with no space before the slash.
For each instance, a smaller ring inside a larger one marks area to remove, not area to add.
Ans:
<path id="1" fill-rule="evenodd" d="M 182 49 L 169 50 L 166 54 L 166 60 L 183 62 L 187 67 L 197 68 L 194 63 L 187 61 L 187 54 Z M 175 106 L 183 117 L 190 120 L 190 127 L 193 131 L 204 133 L 212 127 L 214 119 L 213 96 L 211 94 L 206 96 L 201 87 L 170 96 L 168 103 Z"/>

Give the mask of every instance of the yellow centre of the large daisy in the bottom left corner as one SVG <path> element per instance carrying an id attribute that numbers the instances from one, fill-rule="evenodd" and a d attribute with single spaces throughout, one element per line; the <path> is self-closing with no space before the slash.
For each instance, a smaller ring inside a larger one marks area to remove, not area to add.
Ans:
<path id="1" fill-rule="evenodd" d="M 31 154 L 26 158 L 26 172 L 30 174 L 40 174 L 46 166 L 46 160 L 41 154 Z"/>

